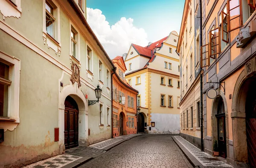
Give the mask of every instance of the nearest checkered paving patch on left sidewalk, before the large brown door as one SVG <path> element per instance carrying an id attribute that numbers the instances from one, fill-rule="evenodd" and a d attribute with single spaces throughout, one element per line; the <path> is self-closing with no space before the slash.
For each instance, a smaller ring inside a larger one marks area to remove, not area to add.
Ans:
<path id="1" fill-rule="evenodd" d="M 62 154 L 50 157 L 49 159 L 41 160 L 30 165 L 23 166 L 22 168 L 61 168 L 71 162 L 82 157 L 73 156 L 69 154 Z"/>

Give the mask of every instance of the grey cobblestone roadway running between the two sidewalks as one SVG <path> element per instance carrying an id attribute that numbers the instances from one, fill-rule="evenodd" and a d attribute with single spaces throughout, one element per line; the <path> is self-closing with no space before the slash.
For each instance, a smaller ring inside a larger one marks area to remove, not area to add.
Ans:
<path id="1" fill-rule="evenodd" d="M 80 168 L 192 168 L 171 135 L 143 135 L 112 148 Z"/>

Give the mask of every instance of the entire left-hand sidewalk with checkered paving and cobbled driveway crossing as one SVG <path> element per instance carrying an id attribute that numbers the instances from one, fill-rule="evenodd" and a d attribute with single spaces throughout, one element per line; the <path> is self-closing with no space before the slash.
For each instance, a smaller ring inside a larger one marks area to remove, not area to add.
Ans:
<path id="1" fill-rule="evenodd" d="M 50 157 L 23 168 L 76 168 L 89 160 L 104 154 L 106 151 L 121 144 L 129 139 L 132 139 L 140 134 L 129 134 L 118 136 L 113 139 L 107 139 L 102 142 L 87 146 L 67 149 L 65 154 Z"/>

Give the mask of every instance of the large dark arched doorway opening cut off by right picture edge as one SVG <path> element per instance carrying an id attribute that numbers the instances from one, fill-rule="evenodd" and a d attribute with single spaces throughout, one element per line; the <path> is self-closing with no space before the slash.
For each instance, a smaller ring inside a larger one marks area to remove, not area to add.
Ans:
<path id="1" fill-rule="evenodd" d="M 256 78 L 251 78 L 245 102 L 248 163 L 256 167 Z M 247 81 L 248 82 L 248 81 Z"/>

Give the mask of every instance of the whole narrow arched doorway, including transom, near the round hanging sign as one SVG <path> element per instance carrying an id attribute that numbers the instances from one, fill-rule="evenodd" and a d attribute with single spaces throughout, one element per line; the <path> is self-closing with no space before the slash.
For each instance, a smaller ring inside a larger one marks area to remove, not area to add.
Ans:
<path id="1" fill-rule="evenodd" d="M 227 143 L 226 143 L 226 119 L 223 98 L 218 100 L 217 114 L 217 134 L 218 134 L 218 148 L 220 156 L 227 157 Z"/>

